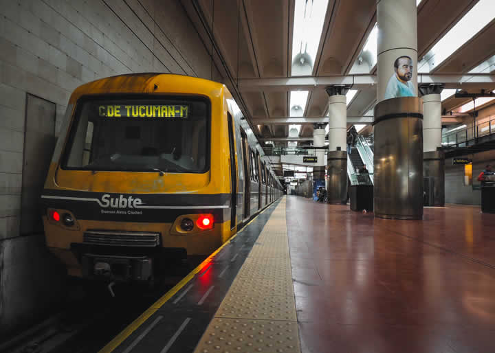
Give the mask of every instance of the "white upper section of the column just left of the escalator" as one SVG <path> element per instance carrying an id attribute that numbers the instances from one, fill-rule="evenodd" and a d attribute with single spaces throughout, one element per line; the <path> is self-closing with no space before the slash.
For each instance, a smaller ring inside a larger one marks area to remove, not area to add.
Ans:
<path id="1" fill-rule="evenodd" d="M 329 151 L 346 150 L 347 101 L 345 95 L 329 96 Z"/>

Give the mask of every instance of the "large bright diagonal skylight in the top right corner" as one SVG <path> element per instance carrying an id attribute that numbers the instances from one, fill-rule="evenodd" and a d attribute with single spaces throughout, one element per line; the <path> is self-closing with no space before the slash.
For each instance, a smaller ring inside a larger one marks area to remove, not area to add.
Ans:
<path id="1" fill-rule="evenodd" d="M 419 62 L 418 72 L 430 72 L 450 57 L 495 17 L 495 1 L 480 0 Z"/>

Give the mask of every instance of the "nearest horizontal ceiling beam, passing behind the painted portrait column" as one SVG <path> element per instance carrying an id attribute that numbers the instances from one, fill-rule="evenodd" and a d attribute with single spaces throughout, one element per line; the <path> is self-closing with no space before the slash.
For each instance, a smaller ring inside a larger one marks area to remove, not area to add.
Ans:
<path id="1" fill-rule="evenodd" d="M 441 74 L 419 73 L 418 84 L 443 83 L 446 89 L 495 89 L 495 76 L 489 73 Z M 291 78 L 242 78 L 241 92 L 314 91 L 331 84 L 349 84 L 353 89 L 366 89 L 377 84 L 375 75 L 299 76 Z"/>

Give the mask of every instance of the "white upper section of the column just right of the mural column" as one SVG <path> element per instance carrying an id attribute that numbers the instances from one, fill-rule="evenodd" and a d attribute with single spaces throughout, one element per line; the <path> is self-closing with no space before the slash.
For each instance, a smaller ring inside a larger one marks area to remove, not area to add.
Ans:
<path id="1" fill-rule="evenodd" d="M 423 152 L 441 147 L 441 99 L 433 93 L 423 95 Z"/>

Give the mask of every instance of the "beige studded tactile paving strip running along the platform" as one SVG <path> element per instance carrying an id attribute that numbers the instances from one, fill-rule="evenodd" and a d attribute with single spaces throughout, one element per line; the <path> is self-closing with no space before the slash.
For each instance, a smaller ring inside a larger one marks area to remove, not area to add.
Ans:
<path id="1" fill-rule="evenodd" d="M 272 212 L 195 352 L 300 352 L 285 198 Z"/>

